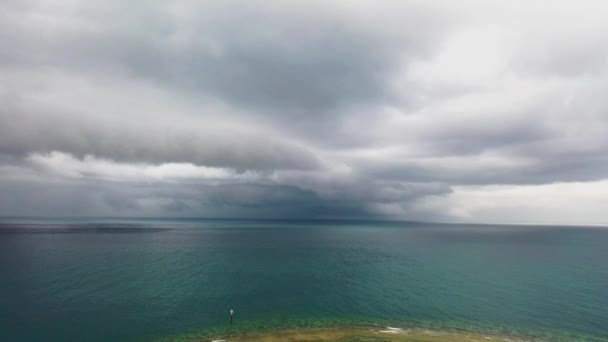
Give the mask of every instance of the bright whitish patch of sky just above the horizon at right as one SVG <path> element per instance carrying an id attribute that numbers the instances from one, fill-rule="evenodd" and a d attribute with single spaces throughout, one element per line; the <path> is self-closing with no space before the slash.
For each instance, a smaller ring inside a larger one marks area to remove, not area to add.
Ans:
<path id="1" fill-rule="evenodd" d="M 608 225 L 608 180 L 544 185 L 458 186 L 425 205 L 461 222 Z"/>

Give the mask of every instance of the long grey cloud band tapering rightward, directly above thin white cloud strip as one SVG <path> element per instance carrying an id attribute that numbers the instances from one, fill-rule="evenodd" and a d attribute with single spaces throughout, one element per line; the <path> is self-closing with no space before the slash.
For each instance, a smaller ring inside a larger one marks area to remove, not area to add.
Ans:
<path id="1" fill-rule="evenodd" d="M 256 170 L 320 165 L 306 147 L 251 130 L 172 129 L 171 121 L 160 125 L 111 122 L 110 118 L 90 119 L 76 113 L 27 111 L 13 103 L 7 100 L 0 108 L 0 119 L 9 123 L 0 127 L 0 153 L 6 155 L 64 151 L 81 158 L 92 154 L 116 161 L 190 162 Z"/>

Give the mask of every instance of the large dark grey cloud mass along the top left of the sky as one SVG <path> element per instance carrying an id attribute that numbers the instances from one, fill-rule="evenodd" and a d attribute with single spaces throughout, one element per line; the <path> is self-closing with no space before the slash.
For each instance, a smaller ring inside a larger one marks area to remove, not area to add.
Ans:
<path id="1" fill-rule="evenodd" d="M 28 25 L 30 20 L 38 24 L 28 16 L 47 13 L 13 9 L 3 26 L 14 44 L 3 59 L 80 72 L 120 70 L 279 117 L 327 116 L 340 106 L 390 97 L 390 73 L 404 58 L 428 54 L 431 38 L 444 26 L 422 6 L 404 11 L 403 31 L 395 32 L 370 29 L 343 17 L 346 11 L 328 12 L 314 2 L 181 7 L 158 2 L 82 6 L 77 18 L 66 18 L 75 23 L 47 27 L 42 37 Z"/>

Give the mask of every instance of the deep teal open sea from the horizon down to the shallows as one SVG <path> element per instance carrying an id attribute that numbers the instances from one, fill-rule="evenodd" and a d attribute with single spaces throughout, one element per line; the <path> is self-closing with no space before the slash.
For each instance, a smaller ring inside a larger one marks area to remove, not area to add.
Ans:
<path id="1" fill-rule="evenodd" d="M 608 338 L 608 229 L 0 220 L 0 340 L 236 322 L 444 322 Z"/>

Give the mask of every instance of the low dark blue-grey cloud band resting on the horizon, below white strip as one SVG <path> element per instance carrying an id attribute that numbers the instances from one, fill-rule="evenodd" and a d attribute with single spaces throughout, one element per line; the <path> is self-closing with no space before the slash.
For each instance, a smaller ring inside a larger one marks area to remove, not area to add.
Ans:
<path id="1" fill-rule="evenodd" d="M 365 201 L 332 201 L 293 186 L 0 180 L 0 215 L 367 217 Z M 60 200 L 58 200 L 60 199 Z"/>

